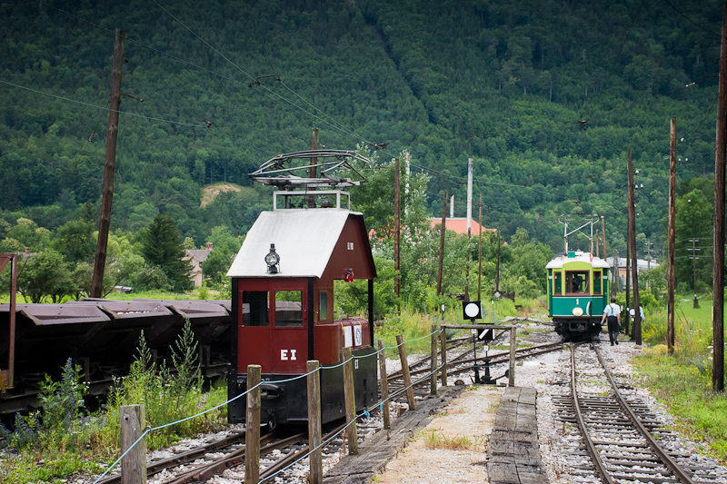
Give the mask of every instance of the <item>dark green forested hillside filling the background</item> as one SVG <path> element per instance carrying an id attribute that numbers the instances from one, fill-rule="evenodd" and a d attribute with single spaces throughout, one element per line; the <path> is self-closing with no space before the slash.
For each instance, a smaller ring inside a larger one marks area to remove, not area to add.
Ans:
<path id="1" fill-rule="evenodd" d="M 316 126 L 382 162 L 408 150 L 436 215 L 444 191 L 464 215 L 473 157 L 484 224 L 555 251 L 567 212 L 604 215 L 623 249 L 632 150 L 637 231 L 661 249 L 670 117 L 680 183 L 713 170 L 721 15 L 696 0 L 5 0 L 0 240 L 21 216 L 55 231 L 98 212 L 120 27 L 113 229 L 163 213 L 195 245 L 244 234 L 271 202 L 246 173 Z M 219 182 L 242 190 L 202 207 Z"/>

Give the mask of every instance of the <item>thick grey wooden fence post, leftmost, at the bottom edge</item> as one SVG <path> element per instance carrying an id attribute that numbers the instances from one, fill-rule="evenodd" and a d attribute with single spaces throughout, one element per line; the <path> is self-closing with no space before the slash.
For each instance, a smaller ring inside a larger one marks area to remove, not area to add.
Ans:
<path id="1" fill-rule="evenodd" d="M 123 453 L 142 436 L 146 427 L 146 416 L 144 405 L 124 405 L 120 410 Z M 145 484 L 145 482 L 146 440 L 142 439 L 121 459 L 121 483 Z"/>

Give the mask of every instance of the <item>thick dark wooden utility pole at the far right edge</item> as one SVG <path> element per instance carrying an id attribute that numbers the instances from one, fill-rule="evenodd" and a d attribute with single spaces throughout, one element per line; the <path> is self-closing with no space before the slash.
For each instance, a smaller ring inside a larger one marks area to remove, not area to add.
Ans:
<path id="1" fill-rule="evenodd" d="M 722 8 L 722 47 L 714 156 L 714 243 L 712 268 L 712 390 L 724 390 L 724 163 L 727 158 L 727 3 Z"/>

